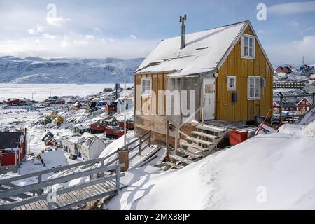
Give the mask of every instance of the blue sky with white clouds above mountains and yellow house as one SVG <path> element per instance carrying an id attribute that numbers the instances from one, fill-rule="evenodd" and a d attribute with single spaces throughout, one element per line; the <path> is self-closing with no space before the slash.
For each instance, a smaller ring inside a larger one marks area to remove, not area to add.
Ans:
<path id="1" fill-rule="evenodd" d="M 257 20 L 258 3 L 267 20 Z M 179 35 L 184 13 L 188 33 L 249 19 L 273 64 L 315 63 L 315 1 L 0 0 L 0 55 L 146 57 Z"/>

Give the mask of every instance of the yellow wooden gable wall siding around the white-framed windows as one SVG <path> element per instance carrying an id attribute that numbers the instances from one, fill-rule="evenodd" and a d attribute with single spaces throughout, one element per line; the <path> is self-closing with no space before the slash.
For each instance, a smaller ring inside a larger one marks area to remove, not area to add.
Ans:
<path id="1" fill-rule="evenodd" d="M 244 34 L 253 35 L 250 27 Z M 237 90 L 228 91 L 228 76 L 237 76 Z M 261 76 L 266 80 L 266 87 L 261 88 L 260 100 L 247 99 L 248 76 Z M 240 122 L 254 120 L 256 115 L 267 115 L 272 108 L 272 67 L 255 41 L 255 59 L 241 58 L 241 38 L 218 71 L 216 119 Z M 238 100 L 232 103 L 232 92 L 237 92 Z"/>

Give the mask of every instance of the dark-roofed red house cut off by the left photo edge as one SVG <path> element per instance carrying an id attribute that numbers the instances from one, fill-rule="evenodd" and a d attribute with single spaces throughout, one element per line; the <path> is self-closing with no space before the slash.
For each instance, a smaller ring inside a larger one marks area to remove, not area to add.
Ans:
<path id="1" fill-rule="evenodd" d="M 17 172 L 27 152 L 24 132 L 0 132 L 0 174 Z"/>

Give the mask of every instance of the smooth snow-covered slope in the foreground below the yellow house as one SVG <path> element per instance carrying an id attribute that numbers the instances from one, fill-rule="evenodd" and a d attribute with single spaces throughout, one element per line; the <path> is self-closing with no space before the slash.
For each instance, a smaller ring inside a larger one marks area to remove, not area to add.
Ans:
<path id="1" fill-rule="evenodd" d="M 169 172 L 151 172 L 108 209 L 315 209 L 315 121 L 283 125 Z"/>

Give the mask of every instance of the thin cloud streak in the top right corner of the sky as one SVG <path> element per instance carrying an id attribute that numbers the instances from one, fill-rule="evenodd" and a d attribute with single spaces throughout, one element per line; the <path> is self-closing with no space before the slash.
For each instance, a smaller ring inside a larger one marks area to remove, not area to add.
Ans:
<path id="1" fill-rule="evenodd" d="M 315 11 L 315 1 L 279 3 L 267 7 L 267 14 L 296 15 Z"/>

